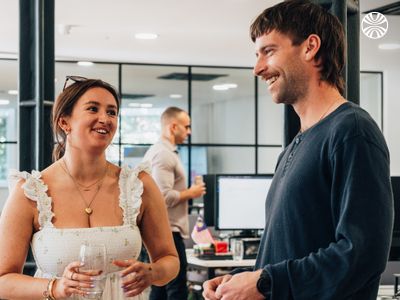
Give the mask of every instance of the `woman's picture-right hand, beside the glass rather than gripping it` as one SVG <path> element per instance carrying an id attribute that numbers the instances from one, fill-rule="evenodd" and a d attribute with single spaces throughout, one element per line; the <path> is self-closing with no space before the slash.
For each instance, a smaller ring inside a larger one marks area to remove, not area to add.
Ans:
<path id="1" fill-rule="evenodd" d="M 142 263 L 135 259 L 114 260 L 113 264 L 125 268 L 120 273 L 125 296 L 133 297 L 139 295 L 152 284 L 151 264 Z"/>

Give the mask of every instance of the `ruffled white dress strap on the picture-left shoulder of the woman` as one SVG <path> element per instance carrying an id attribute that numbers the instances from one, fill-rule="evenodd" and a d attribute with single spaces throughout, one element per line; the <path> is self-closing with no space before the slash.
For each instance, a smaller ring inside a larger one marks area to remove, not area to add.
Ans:
<path id="1" fill-rule="evenodd" d="M 52 200 L 46 193 L 47 185 L 44 184 L 41 177 L 42 174 L 35 170 L 32 171 L 32 174 L 26 171 L 10 170 L 8 175 L 9 191 L 14 189 L 15 185 L 21 179 L 25 180 L 21 187 L 24 190 L 25 196 L 36 202 L 40 229 L 43 227 L 53 227 L 51 220 L 54 216 L 54 213 L 51 211 Z"/>

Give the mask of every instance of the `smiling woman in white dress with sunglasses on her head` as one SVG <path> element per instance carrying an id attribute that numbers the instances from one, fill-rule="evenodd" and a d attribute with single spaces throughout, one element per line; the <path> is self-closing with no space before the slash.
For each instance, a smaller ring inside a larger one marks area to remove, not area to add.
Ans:
<path id="1" fill-rule="evenodd" d="M 65 83 L 53 107 L 55 162 L 11 176 L 0 219 L 0 298 L 87 295 L 95 278 L 79 271 L 79 248 L 101 243 L 108 262 L 102 299 L 143 299 L 146 287 L 166 284 L 179 269 L 165 204 L 147 166 L 119 168 L 106 160 L 118 125 L 115 89 L 78 76 Z M 150 264 L 136 260 L 142 239 Z M 21 274 L 30 243 L 35 278 Z"/>

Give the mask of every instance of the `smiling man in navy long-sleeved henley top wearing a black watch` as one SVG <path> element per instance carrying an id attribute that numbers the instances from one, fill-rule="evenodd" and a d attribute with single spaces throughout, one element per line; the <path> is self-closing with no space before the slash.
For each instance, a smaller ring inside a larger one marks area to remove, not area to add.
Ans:
<path id="1" fill-rule="evenodd" d="M 301 127 L 278 158 L 254 270 L 207 281 L 203 295 L 375 300 L 393 226 L 389 151 L 370 115 L 342 96 L 343 27 L 292 0 L 266 9 L 250 33 L 255 75 Z"/>

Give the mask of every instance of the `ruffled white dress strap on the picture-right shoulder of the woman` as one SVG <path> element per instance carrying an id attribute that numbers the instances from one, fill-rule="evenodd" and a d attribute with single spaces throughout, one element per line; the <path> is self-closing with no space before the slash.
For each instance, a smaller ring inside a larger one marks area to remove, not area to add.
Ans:
<path id="1" fill-rule="evenodd" d="M 137 225 L 136 218 L 142 205 L 143 182 L 138 178 L 140 172 L 150 174 L 149 162 L 143 162 L 134 169 L 123 166 L 120 175 L 120 199 L 119 206 L 124 215 L 124 225 Z"/>

